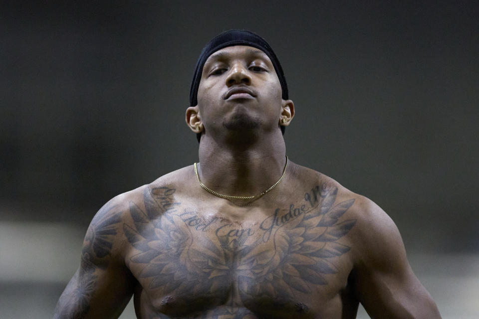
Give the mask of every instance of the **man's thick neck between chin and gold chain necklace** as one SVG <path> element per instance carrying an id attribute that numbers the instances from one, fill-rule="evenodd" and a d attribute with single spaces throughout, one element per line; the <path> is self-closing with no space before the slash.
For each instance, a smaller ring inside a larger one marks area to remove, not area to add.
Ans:
<path id="1" fill-rule="evenodd" d="M 224 144 L 203 136 L 198 173 L 205 185 L 221 194 L 255 196 L 279 179 L 285 152 L 281 135 L 248 145 Z"/>

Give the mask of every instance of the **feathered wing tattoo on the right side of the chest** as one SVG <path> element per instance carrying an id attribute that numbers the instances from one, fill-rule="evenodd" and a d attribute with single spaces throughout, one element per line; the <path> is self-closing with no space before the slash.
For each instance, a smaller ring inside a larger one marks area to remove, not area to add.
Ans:
<path id="1" fill-rule="evenodd" d="M 296 291 L 308 294 L 312 285 L 327 285 L 327 275 L 338 272 L 329 260 L 350 250 L 337 241 L 356 223 L 355 219 L 340 221 L 354 199 L 333 206 L 336 187 L 322 188 L 318 195 L 318 205 L 311 211 L 298 213 L 284 224 L 276 222 L 279 226 L 272 235 L 274 250 L 263 250 L 257 245 L 242 256 L 252 270 L 251 274 L 239 277 L 243 300 L 253 296 L 277 302 L 291 300 Z"/>

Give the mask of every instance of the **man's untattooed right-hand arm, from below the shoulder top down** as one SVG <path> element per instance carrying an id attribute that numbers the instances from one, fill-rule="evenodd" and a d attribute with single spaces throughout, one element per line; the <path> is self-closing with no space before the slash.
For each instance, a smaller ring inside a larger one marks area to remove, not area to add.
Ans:
<path id="1" fill-rule="evenodd" d="M 369 199 L 362 201 L 362 223 L 353 279 L 357 298 L 371 318 L 441 318 L 414 275 L 399 230 Z"/>

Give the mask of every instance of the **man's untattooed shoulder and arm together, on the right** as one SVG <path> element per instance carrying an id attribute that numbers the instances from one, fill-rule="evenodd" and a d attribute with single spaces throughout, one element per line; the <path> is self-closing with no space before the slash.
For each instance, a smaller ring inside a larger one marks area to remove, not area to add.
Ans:
<path id="1" fill-rule="evenodd" d="M 321 185 L 336 192 L 327 214 L 340 212 L 349 220 L 346 245 L 354 295 L 371 318 L 440 318 L 437 306 L 414 275 L 394 221 L 369 198 L 334 179 L 315 173 Z M 331 191 L 329 191 L 331 192 Z"/>

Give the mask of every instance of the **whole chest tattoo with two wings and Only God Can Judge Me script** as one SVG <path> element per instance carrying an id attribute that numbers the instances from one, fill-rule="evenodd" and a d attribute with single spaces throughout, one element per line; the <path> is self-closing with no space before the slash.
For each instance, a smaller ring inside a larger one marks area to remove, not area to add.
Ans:
<path id="1" fill-rule="evenodd" d="M 350 250 L 338 240 L 356 223 L 341 219 L 354 199 L 334 205 L 337 191 L 313 187 L 299 204 L 243 228 L 181 208 L 173 188 L 147 188 L 144 209 L 130 202 L 133 224 L 123 231 L 136 251 L 135 276 L 152 296 L 164 296 L 151 299 L 158 311 L 151 318 L 311 317 L 294 301 L 338 273 L 331 260 Z"/>

